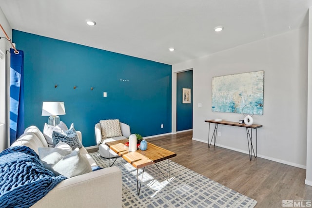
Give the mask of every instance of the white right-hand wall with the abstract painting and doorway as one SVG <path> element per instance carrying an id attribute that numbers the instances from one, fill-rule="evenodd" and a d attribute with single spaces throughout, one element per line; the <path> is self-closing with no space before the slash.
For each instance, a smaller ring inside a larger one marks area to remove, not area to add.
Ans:
<path id="1" fill-rule="evenodd" d="M 194 85 L 193 139 L 208 142 L 208 123 L 204 120 L 238 122 L 244 117 L 212 112 L 212 77 L 264 70 L 264 113 L 254 115 L 254 123 L 263 125 L 258 129 L 258 156 L 306 167 L 308 27 L 173 65 L 173 75 L 190 68 Z M 173 89 L 173 100 L 175 96 Z M 198 103 L 202 108 L 197 107 Z M 173 106 L 173 114 L 175 111 Z M 248 153 L 244 128 L 219 125 L 218 131 L 218 146 Z"/>

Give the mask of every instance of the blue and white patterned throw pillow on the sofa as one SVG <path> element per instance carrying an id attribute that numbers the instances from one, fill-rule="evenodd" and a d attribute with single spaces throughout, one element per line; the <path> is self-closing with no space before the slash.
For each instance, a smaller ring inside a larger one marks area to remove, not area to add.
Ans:
<path id="1" fill-rule="evenodd" d="M 78 138 L 77 132 L 74 128 L 74 124 L 71 125 L 69 130 L 65 132 L 53 132 L 52 133 L 53 144 L 57 145 L 59 141 L 69 144 L 69 146 L 75 150 L 76 148 L 81 148 L 82 144 Z"/>

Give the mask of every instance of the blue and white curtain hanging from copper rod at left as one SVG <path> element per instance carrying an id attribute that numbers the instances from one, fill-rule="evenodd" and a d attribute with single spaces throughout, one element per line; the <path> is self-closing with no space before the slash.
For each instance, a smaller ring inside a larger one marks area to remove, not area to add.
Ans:
<path id="1" fill-rule="evenodd" d="M 10 145 L 24 132 L 24 53 L 11 49 L 10 65 Z"/>

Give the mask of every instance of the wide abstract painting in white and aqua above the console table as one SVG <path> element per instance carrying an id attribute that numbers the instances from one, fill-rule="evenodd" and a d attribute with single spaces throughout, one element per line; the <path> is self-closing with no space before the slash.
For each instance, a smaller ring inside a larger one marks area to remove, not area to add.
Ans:
<path id="1" fill-rule="evenodd" d="M 262 115 L 263 83 L 264 71 L 213 77 L 212 111 Z"/>

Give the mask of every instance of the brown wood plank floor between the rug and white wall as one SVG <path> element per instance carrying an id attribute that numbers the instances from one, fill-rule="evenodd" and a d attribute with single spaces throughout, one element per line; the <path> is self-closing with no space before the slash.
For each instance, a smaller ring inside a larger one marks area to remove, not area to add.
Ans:
<path id="1" fill-rule="evenodd" d="M 306 170 L 256 158 L 192 140 L 192 131 L 150 138 L 147 141 L 176 152 L 176 163 L 230 189 L 255 199 L 256 208 L 281 208 L 283 199 L 312 200 L 305 185 Z"/>

